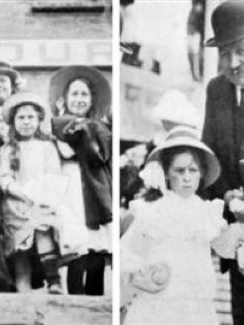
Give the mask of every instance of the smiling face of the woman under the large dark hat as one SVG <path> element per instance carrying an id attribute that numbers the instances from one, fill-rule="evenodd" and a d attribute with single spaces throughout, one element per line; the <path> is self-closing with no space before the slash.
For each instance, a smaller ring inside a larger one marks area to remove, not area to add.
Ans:
<path id="1" fill-rule="evenodd" d="M 66 106 L 69 113 L 86 117 L 91 109 L 91 91 L 82 80 L 74 80 L 67 90 Z"/>

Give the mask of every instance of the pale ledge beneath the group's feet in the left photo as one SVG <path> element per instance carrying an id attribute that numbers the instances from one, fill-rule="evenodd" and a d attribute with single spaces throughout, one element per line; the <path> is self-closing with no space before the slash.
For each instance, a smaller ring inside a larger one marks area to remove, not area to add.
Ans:
<path id="1" fill-rule="evenodd" d="M 0 324 L 112 324 L 106 296 L 0 294 Z"/>

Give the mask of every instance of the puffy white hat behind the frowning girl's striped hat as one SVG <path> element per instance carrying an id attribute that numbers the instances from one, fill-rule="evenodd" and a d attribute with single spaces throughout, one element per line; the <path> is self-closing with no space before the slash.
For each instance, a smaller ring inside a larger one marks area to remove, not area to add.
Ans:
<path id="1" fill-rule="evenodd" d="M 201 127 L 197 108 L 178 89 L 170 89 L 164 93 L 154 106 L 152 116 L 157 120 L 171 121 L 195 128 Z"/>

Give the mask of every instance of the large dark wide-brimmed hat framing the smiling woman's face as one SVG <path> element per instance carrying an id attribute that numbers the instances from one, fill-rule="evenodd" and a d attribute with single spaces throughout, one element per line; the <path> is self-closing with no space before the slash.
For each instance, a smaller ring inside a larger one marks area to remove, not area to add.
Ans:
<path id="1" fill-rule="evenodd" d="M 108 114 L 111 106 L 111 88 L 107 79 L 91 66 L 72 65 L 59 69 L 51 77 L 49 84 L 49 104 L 54 115 L 58 115 L 56 102 L 64 96 L 64 90 L 75 79 L 85 78 L 95 89 L 93 99 L 94 118 L 102 118 Z"/>

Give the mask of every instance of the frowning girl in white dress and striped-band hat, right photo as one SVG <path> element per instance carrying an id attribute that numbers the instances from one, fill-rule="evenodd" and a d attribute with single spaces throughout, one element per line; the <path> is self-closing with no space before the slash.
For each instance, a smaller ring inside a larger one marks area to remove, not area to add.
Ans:
<path id="1" fill-rule="evenodd" d="M 150 160 L 162 163 L 168 190 L 131 205 L 135 221 L 121 241 L 122 305 L 134 297 L 125 324 L 217 325 L 211 242 L 227 227 L 224 202 L 196 192 L 217 179 L 218 160 L 187 127 L 172 129 Z"/>

